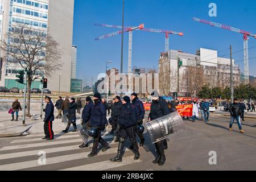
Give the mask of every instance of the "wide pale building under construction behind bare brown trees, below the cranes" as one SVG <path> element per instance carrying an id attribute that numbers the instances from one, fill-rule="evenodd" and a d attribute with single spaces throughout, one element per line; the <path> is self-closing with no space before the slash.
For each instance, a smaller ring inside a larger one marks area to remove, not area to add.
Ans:
<path id="1" fill-rule="evenodd" d="M 200 48 L 196 54 L 170 50 L 159 59 L 159 91 L 168 95 L 186 92 L 196 96 L 204 85 L 230 86 L 230 59 L 218 57 L 218 51 Z M 240 85 L 240 67 L 233 60 L 234 86 Z"/>

